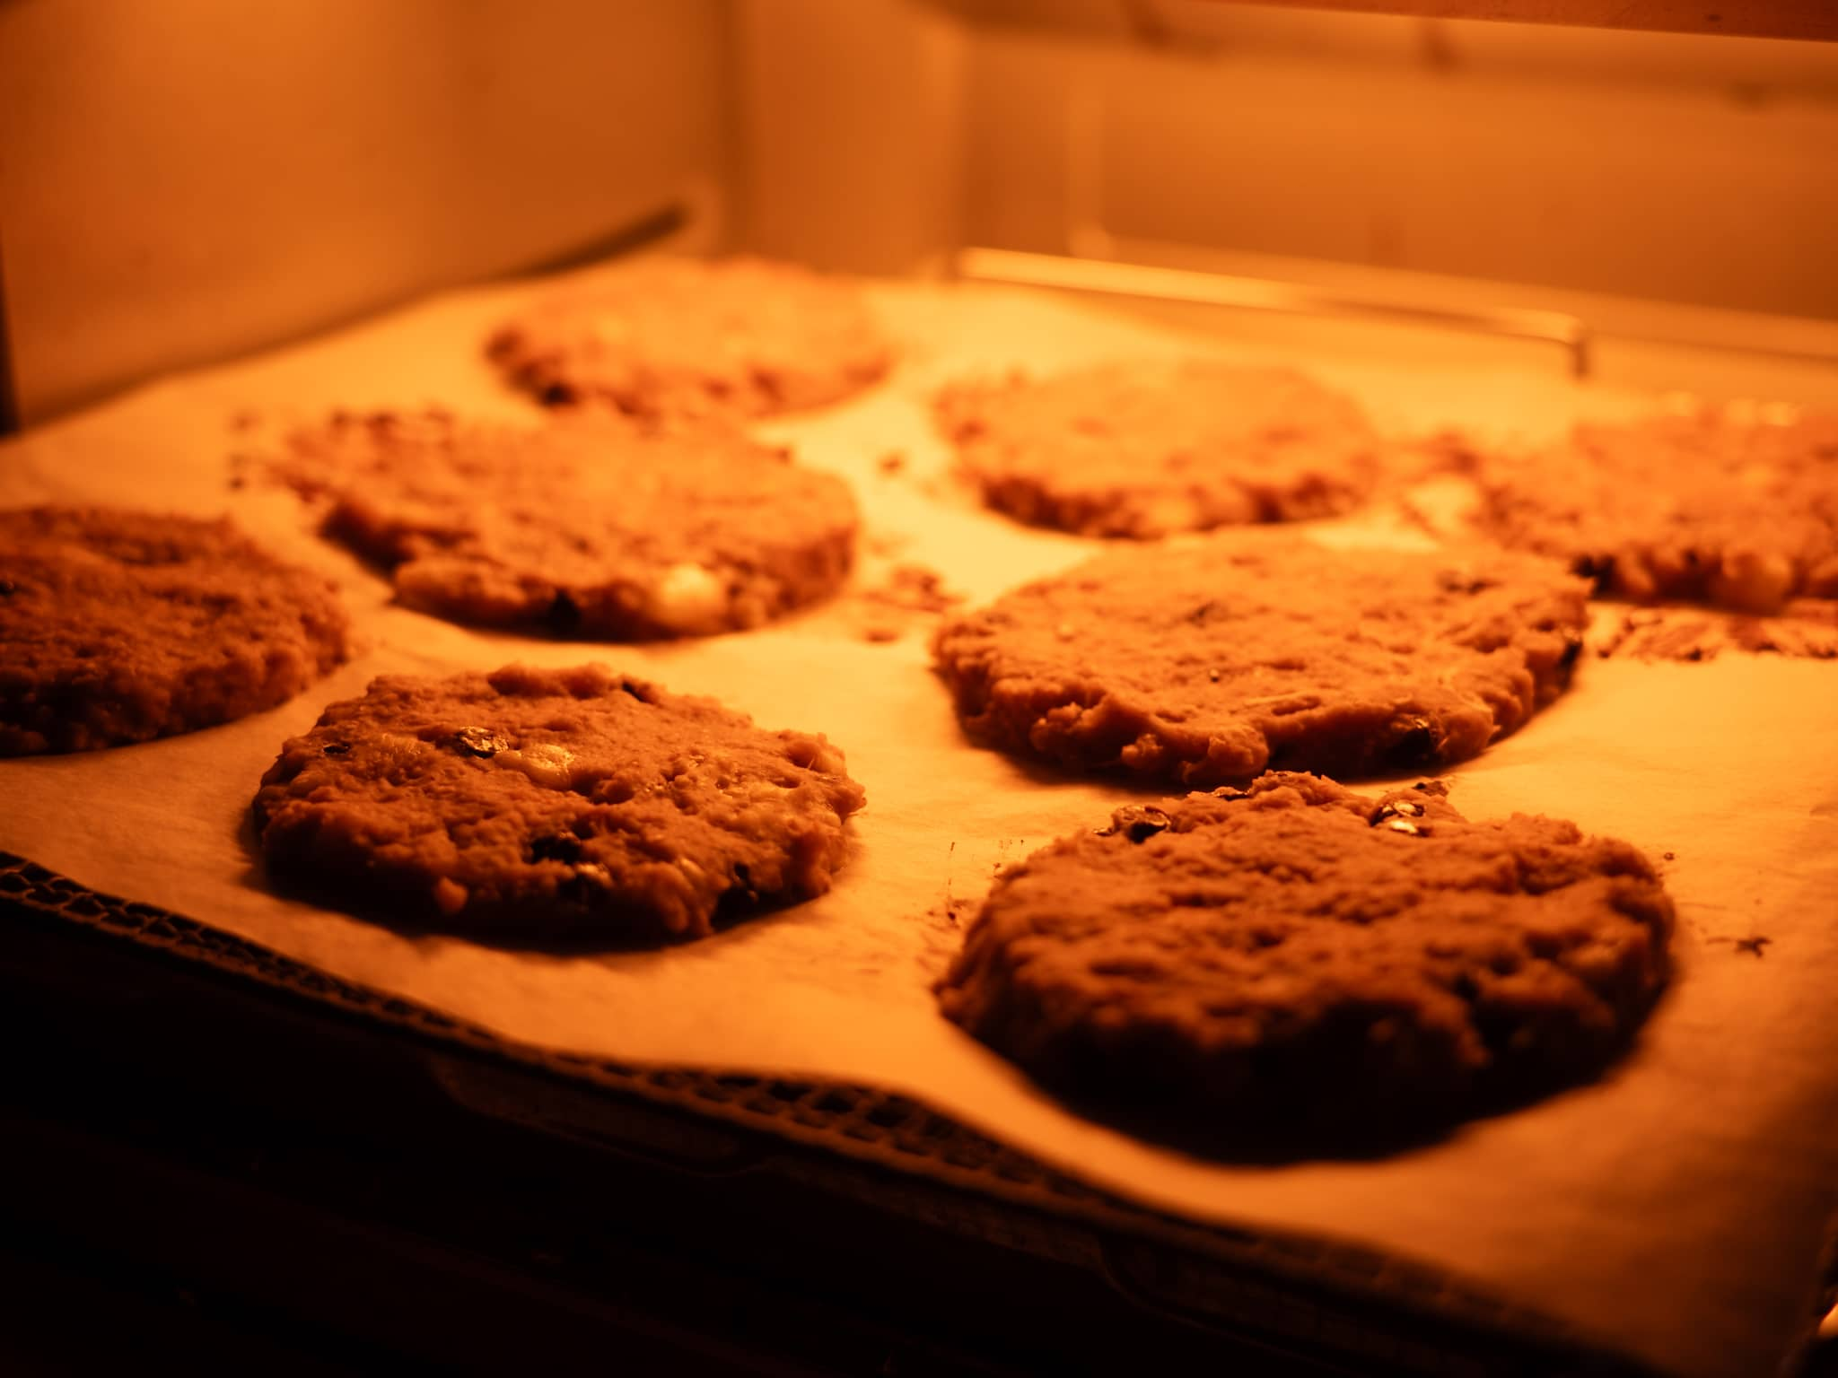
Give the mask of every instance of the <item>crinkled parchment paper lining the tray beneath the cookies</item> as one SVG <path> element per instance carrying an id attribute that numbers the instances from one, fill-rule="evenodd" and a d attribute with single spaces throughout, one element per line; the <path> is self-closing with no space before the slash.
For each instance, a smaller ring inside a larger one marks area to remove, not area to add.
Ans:
<path id="1" fill-rule="evenodd" d="M 233 513 L 333 573 L 364 639 L 355 663 L 276 711 L 145 746 L 0 762 L 0 847 L 509 1038 L 906 1091 L 1121 1196 L 1443 1266 L 1678 1374 L 1766 1372 L 1805 1332 L 1838 1209 L 1838 665 L 1741 652 L 1702 665 L 1586 660 L 1560 704 L 1452 772 L 1470 816 L 1553 812 L 1671 854 L 1680 976 L 1599 1084 L 1384 1161 L 1233 1167 L 1169 1152 L 1066 1113 L 936 1014 L 928 985 L 965 908 L 954 900 L 978 898 L 1000 864 L 1101 823 L 1130 790 L 967 746 L 926 669 L 926 619 L 871 643 L 864 603 L 849 597 L 768 630 L 665 647 L 480 636 L 393 608 L 388 584 L 318 542 L 290 496 L 230 487 L 232 454 L 331 406 L 531 415 L 478 356 L 483 331 L 526 290 L 439 298 L 0 448 L 7 503 Z M 937 382 L 1022 362 L 1239 353 L 1040 294 L 880 285 L 871 296 L 904 347 L 897 375 L 857 402 L 761 426 L 855 481 L 864 584 L 912 560 L 983 599 L 1092 549 L 980 513 L 945 478 L 925 412 Z M 1312 364 L 1393 426 L 1533 434 L 1643 404 L 1573 388 L 1555 358 L 1500 360 L 1459 338 Z M 884 472 L 890 452 L 897 472 Z M 1386 520 L 1327 538 L 1421 540 Z M 612 955 L 408 937 L 263 889 L 246 812 L 283 737 L 377 672 L 511 660 L 605 660 L 719 695 L 772 728 L 829 733 L 869 799 L 836 889 L 693 946 Z"/>

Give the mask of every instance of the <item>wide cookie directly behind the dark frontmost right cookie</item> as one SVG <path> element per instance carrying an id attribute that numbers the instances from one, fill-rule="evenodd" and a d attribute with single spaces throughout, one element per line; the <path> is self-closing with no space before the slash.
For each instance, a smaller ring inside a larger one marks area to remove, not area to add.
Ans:
<path id="1" fill-rule="evenodd" d="M 947 621 L 972 737 L 1187 786 L 1476 755 L 1555 698 L 1588 584 L 1500 551 L 1329 549 L 1239 531 L 1127 548 Z"/>

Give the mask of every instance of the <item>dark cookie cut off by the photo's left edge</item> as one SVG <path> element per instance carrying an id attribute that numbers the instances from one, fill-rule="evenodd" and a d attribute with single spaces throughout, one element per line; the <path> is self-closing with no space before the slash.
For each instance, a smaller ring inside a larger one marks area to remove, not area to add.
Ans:
<path id="1" fill-rule="evenodd" d="M 0 755 L 88 751 L 274 707 L 349 654 L 331 584 L 228 520 L 0 511 Z"/>

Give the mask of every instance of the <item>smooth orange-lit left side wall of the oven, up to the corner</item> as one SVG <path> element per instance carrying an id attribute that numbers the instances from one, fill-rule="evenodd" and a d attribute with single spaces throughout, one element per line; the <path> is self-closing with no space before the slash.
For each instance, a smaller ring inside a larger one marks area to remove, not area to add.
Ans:
<path id="1" fill-rule="evenodd" d="M 726 0 L 0 0 L 26 423 L 689 198 L 720 233 Z"/>

